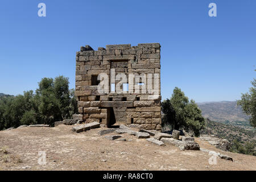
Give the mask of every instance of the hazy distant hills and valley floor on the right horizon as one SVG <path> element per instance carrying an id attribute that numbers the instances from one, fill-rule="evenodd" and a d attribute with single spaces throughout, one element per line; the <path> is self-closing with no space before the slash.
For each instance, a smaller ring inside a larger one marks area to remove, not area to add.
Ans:
<path id="1" fill-rule="evenodd" d="M 201 102 L 197 105 L 202 110 L 203 116 L 217 122 L 245 122 L 249 116 L 242 113 L 241 106 L 236 101 Z"/>

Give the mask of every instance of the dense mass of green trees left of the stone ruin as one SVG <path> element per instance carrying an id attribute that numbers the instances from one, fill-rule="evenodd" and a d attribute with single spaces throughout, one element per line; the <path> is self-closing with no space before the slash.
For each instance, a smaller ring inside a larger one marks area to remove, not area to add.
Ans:
<path id="1" fill-rule="evenodd" d="M 35 93 L 30 90 L 15 97 L 0 97 L 0 130 L 20 125 L 72 118 L 77 113 L 74 90 L 67 77 L 42 78 Z"/>

